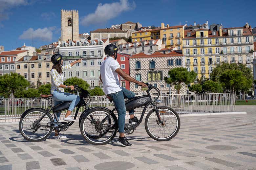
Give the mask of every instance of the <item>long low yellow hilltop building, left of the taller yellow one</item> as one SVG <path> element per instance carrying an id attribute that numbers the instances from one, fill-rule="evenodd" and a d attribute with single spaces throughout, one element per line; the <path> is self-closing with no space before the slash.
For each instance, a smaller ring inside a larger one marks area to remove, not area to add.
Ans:
<path id="1" fill-rule="evenodd" d="M 160 39 L 160 29 L 140 30 L 132 33 L 132 42 L 150 39 Z"/>

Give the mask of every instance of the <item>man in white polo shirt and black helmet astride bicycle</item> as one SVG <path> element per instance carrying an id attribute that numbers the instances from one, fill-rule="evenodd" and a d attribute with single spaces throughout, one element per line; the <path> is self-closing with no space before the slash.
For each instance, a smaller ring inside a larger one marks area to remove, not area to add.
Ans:
<path id="1" fill-rule="evenodd" d="M 105 94 L 113 100 L 117 109 L 118 130 L 120 134 L 117 143 L 124 147 L 131 147 L 132 145 L 124 136 L 124 124 L 126 115 L 124 99 L 133 99 L 135 94 L 120 86 L 118 75 L 123 77 L 125 80 L 136 83 L 142 87 L 147 87 L 147 85 L 135 80 L 130 75 L 123 72 L 116 60 L 117 51 L 117 46 L 113 44 L 109 44 L 105 47 L 104 52 L 107 55 L 107 59 L 104 60 L 100 65 L 99 79 L 103 84 L 103 90 Z M 130 110 L 129 114 L 129 123 L 135 124 L 139 121 L 137 117 L 134 116 L 134 110 Z"/>

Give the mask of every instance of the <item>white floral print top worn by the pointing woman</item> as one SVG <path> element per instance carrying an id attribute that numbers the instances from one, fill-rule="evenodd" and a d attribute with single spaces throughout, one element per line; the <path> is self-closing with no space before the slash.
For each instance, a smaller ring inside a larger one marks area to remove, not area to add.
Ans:
<path id="1" fill-rule="evenodd" d="M 68 65 L 65 65 L 62 67 L 62 71 L 71 69 L 70 63 Z M 62 74 L 59 74 L 56 69 L 51 70 L 51 94 L 53 94 L 54 90 L 57 90 L 58 92 L 64 92 L 64 88 L 59 87 L 59 85 L 63 85 L 63 76 Z"/>

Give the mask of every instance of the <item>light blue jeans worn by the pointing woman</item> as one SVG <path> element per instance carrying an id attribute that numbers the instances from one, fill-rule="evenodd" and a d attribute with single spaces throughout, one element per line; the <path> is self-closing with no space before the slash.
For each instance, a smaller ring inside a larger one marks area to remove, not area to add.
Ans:
<path id="1" fill-rule="evenodd" d="M 75 94 L 65 93 L 65 92 L 58 92 L 56 90 L 53 91 L 53 101 L 54 106 L 61 103 L 62 101 L 72 101 L 69 106 L 69 111 L 73 111 L 75 106 L 79 103 L 80 97 Z M 60 112 L 56 113 L 57 118 L 60 117 Z M 57 122 L 57 120 L 54 117 L 54 122 Z"/>

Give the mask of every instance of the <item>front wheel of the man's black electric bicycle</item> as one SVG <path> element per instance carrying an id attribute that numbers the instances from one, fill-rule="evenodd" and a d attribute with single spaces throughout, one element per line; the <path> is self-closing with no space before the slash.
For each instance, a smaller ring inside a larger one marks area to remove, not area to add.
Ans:
<path id="1" fill-rule="evenodd" d="M 157 118 L 157 113 L 155 110 L 151 110 L 145 119 L 145 129 L 148 135 L 157 141 L 168 141 L 172 139 L 180 130 L 180 117 L 170 107 L 159 106 L 158 112 L 161 124 Z"/>

